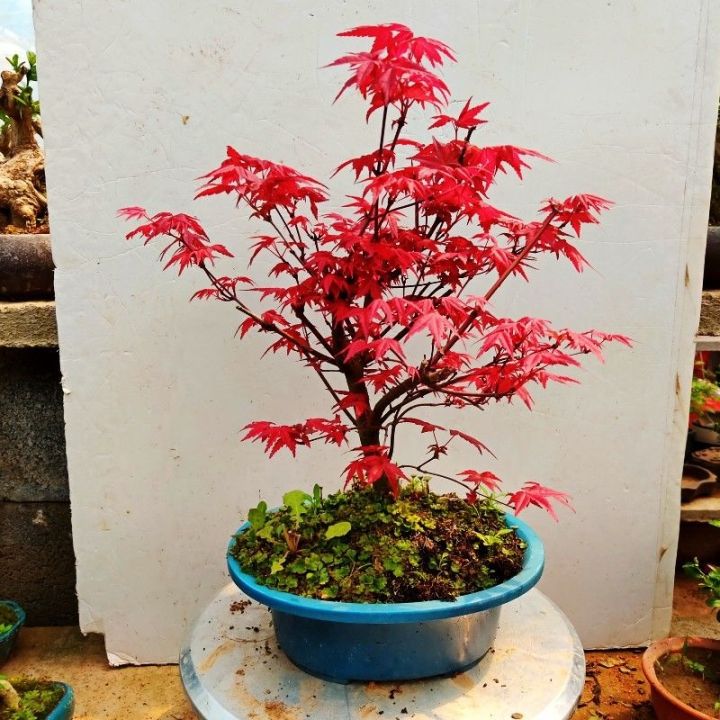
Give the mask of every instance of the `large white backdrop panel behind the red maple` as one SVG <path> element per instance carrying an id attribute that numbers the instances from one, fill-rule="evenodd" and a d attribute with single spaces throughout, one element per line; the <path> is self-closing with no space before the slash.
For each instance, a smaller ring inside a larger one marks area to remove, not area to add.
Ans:
<path id="1" fill-rule="evenodd" d="M 238 441 L 250 419 L 321 412 L 316 381 L 236 314 L 188 305 L 196 278 L 162 274 L 123 239 L 118 207 L 187 209 L 193 178 L 230 142 L 326 177 L 366 151 L 359 104 L 332 107 L 348 49 L 336 31 L 401 21 L 452 45 L 458 99 L 489 99 L 488 143 L 558 164 L 512 179 L 498 204 L 549 194 L 617 202 L 582 277 L 550 265 L 499 311 L 631 335 L 633 352 L 587 365 L 580 388 L 468 426 L 512 483 L 574 495 L 559 525 L 528 514 L 548 549 L 544 590 L 585 645 L 633 645 L 668 628 L 687 385 L 697 322 L 720 19 L 709 0 L 331 0 L 177 3 L 35 0 L 78 595 L 83 630 L 112 663 L 172 662 L 226 581 L 224 546 L 248 506 L 289 487 L 337 485 L 331 450 L 267 462 Z M 234 248 L 249 225 L 223 200 L 192 208 Z M 677 388 L 677 389 L 676 389 Z M 408 448 L 412 452 L 413 447 Z M 452 469 L 474 458 L 458 455 Z"/>

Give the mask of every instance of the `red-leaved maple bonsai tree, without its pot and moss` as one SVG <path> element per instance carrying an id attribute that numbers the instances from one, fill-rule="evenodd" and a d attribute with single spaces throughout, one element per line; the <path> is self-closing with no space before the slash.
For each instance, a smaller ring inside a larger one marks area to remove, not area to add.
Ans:
<path id="1" fill-rule="evenodd" d="M 499 174 L 522 177 L 530 158 L 546 158 L 472 142 L 488 103 L 468 100 L 449 114 L 450 92 L 436 69 L 454 61 L 452 50 L 400 24 L 340 35 L 369 38 L 371 47 L 332 63 L 350 70 L 338 97 L 355 88 L 368 103 L 366 120 L 379 119 L 377 147 L 336 170 L 353 172 L 358 187 L 345 209 L 320 213 L 325 185 L 232 147 L 197 195 L 231 195 L 266 223 L 267 232 L 253 238 L 251 264 L 260 254 L 270 256 L 272 284 L 218 274 L 215 261 L 232 253 L 212 243 L 190 215 L 125 208 L 123 216 L 142 221 L 128 238 L 140 236 L 146 244 L 165 238 L 166 268 L 182 273 L 195 266 L 209 280 L 193 298 L 235 305 L 244 316 L 241 337 L 269 336 L 270 351 L 304 363 L 329 393 L 328 417 L 293 425 L 253 422 L 245 439 L 264 443 L 270 456 L 282 449 L 294 455 L 298 446 L 316 442 L 349 443 L 356 455 L 346 483 L 373 484 L 389 494 L 416 474 L 460 483 L 471 501 L 495 495 L 499 479 L 491 472 L 473 468 L 451 477 L 434 469 L 457 439 L 479 453 L 486 448 L 424 415 L 433 407 L 484 408 L 516 397 L 530 407 L 534 385 L 573 381 L 557 369 L 577 366 L 578 355 L 600 356 L 611 340 L 628 344 L 597 330 L 501 317 L 490 303 L 509 278 L 527 280 L 541 255 L 565 258 L 581 271 L 585 260 L 574 239 L 610 203 L 595 195 L 549 199 L 529 222 L 495 207 L 488 197 Z M 408 135 L 408 117 L 418 108 L 437 113 L 430 130 L 444 137 Z M 483 277 L 487 287 L 479 289 Z M 400 425 L 430 438 L 426 457 L 396 459 Z M 554 516 L 552 500 L 567 504 L 568 497 L 536 482 L 507 497 L 515 512 L 533 504 Z"/>

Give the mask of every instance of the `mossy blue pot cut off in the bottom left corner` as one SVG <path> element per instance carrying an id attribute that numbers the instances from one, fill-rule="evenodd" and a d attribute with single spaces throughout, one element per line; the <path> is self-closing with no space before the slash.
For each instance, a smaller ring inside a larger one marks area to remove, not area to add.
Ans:
<path id="1" fill-rule="evenodd" d="M 74 707 L 65 683 L 0 675 L 0 720 L 71 720 Z"/>

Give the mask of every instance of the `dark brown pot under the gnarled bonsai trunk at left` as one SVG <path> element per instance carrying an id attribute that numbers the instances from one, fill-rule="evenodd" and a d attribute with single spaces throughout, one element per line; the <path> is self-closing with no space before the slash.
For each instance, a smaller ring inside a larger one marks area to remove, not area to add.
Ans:
<path id="1" fill-rule="evenodd" d="M 0 299 L 49 299 L 53 296 L 49 235 L 0 235 Z"/>

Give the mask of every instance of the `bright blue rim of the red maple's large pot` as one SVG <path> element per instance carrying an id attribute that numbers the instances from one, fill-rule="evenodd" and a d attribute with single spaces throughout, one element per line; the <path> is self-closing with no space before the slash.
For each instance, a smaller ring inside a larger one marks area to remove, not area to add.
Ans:
<path id="1" fill-rule="evenodd" d="M 250 523 L 243 523 L 233 535 L 227 551 L 230 577 L 246 595 L 267 605 L 273 610 L 300 615 L 316 620 L 347 623 L 401 623 L 441 620 L 489 610 L 523 595 L 534 587 L 542 575 L 545 565 L 545 551 L 542 541 L 529 525 L 510 513 L 505 514 L 508 527 L 515 528 L 525 541 L 523 568 L 509 580 L 494 587 L 455 600 L 423 600 L 408 603 L 349 603 L 337 600 L 318 600 L 292 593 L 274 590 L 260 585 L 255 578 L 240 569 L 238 561 L 230 554 L 235 537 L 244 532 Z"/>

